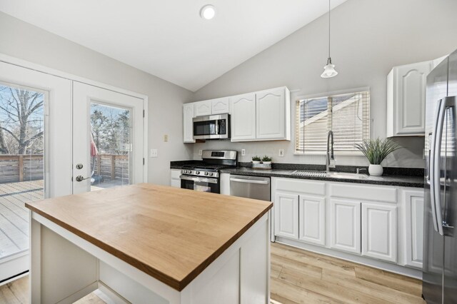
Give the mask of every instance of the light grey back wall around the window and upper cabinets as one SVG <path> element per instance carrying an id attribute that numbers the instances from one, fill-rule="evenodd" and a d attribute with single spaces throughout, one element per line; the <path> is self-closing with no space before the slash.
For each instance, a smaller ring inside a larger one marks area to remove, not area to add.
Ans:
<path id="1" fill-rule="evenodd" d="M 288 86 L 295 91 L 294 121 L 297 96 L 369 86 L 371 135 L 385 137 L 388 72 L 393 66 L 436 59 L 457 49 L 456 11 L 453 0 L 348 0 L 331 13 L 331 57 L 339 72 L 335 78 L 320 77 L 328 54 L 328 15 L 324 15 L 201 88 L 194 101 Z M 396 142 L 405 148 L 393 153 L 384 166 L 423 167 L 422 137 Z M 194 145 L 194 158 L 204 148 L 246 148 L 240 161 L 268 154 L 280 163 L 325 163 L 324 156 L 294 156 L 293 145 L 293 141 L 207 141 Z M 278 148 L 285 149 L 284 158 L 278 158 Z M 336 156 L 336 161 L 368 164 L 354 156 Z"/>

